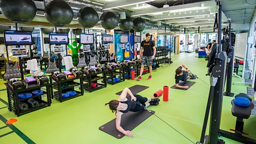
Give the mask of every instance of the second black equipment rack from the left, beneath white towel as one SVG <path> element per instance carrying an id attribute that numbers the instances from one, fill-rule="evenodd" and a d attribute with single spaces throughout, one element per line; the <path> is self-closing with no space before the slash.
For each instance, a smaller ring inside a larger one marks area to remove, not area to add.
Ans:
<path id="1" fill-rule="evenodd" d="M 52 99 L 55 98 L 58 101 L 63 102 L 84 95 L 83 76 L 67 78 L 63 81 L 57 81 L 53 76 L 50 76 L 50 82 Z M 67 86 L 67 84 L 69 86 Z M 65 93 L 66 91 L 76 91 L 76 94 L 63 98 L 62 93 Z"/>

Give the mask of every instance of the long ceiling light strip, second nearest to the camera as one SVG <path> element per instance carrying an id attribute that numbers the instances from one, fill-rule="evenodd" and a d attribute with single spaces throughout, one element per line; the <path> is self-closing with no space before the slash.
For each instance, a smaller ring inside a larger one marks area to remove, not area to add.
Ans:
<path id="1" fill-rule="evenodd" d="M 155 10 L 133 12 L 131 14 L 131 16 L 135 17 L 135 16 L 139 16 L 139 15 L 148 15 L 148 14 L 154 14 L 154 13 L 158 13 L 158 12 L 177 12 L 177 11 L 185 11 L 185 10 L 192 10 L 192 9 L 199 9 L 199 8 L 201 8 L 201 4 L 193 3 L 193 4 L 185 4 L 185 5 L 176 5 L 176 6 L 170 6 L 170 7 L 163 7 L 163 8 L 155 9 Z"/>

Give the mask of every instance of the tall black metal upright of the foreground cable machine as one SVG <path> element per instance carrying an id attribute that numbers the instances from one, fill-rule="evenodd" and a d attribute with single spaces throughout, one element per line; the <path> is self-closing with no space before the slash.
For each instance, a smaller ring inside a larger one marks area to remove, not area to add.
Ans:
<path id="1" fill-rule="evenodd" d="M 220 119 L 221 119 L 221 109 L 223 101 L 223 88 L 224 81 L 226 77 L 226 64 L 227 64 L 227 53 L 221 51 L 221 0 L 217 2 L 218 5 L 218 47 L 217 53 L 214 57 L 214 65 L 209 67 L 210 73 L 210 92 L 207 101 L 204 124 L 201 134 L 200 142 L 197 143 L 225 143 L 225 141 L 219 139 L 220 132 Z M 210 62 L 210 60 L 208 61 Z M 212 63 L 213 64 L 213 63 Z M 212 107 L 212 108 L 211 108 Z M 211 108 L 211 118 L 210 118 L 210 130 L 209 135 L 205 135 L 207 121 Z"/>

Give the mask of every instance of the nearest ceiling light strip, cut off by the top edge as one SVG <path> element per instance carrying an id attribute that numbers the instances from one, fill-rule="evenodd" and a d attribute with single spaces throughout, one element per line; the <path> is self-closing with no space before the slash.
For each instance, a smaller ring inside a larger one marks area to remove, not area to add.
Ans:
<path id="1" fill-rule="evenodd" d="M 156 0 L 140 0 L 139 2 L 138 2 L 138 0 L 121 1 L 121 2 L 103 5 L 102 10 L 110 10 L 110 9 L 115 9 L 118 7 L 124 7 L 124 6 L 153 2 L 153 1 L 156 1 Z"/>

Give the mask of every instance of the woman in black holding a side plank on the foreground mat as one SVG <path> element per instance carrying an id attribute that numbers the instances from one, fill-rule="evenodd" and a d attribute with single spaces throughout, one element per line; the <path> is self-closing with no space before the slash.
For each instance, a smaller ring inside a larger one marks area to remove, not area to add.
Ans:
<path id="1" fill-rule="evenodd" d="M 131 95 L 131 98 L 130 97 L 126 98 L 127 94 Z M 123 134 L 127 135 L 128 137 L 133 137 L 133 135 L 130 131 L 125 131 L 120 126 L 121 116 L 124 113 L 128 113 L 129 111 L 137 112 L 143 109 L 143 107 L 136 104 L 136 102 L 134 102 L 133 100 L 139 101 L 143 106 L 146 106 L 146 107 L 150 105 L 157 106 L 160 101 L 158 98 L 150 99 L 150 98 L 141 97 L 141 95 L 139 94 L 133 95 L 130 89 L 126 87 L 117 100 L 111 100 L 109 103 L 105 104 L 105 106 L 109 105 L 109 109 L 112 110 L 112 113 L 114 113 L 114 111 L 116 112 L 115 113 L 116 129 L 119 132 L 122 132 Z"/>

